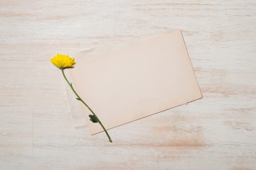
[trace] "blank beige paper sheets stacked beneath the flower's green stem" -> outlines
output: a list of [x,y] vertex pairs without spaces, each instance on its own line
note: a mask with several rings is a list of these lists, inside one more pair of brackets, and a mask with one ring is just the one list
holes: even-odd
[[[68,69],[106,129],[202,98],[181,31],[112,46],[77,53]],[[84,127],[85,118],[92,135],[102,132],[89,120],[90,111],[68,95],[75,126]]]

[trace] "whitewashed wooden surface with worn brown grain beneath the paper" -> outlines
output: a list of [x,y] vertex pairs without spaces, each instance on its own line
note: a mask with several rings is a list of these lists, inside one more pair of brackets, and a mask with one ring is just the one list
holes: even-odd
[[[1,170],[255,170],[256,1],[1,0]],[[89,135],[50,58],[181,29],[204,98]]]

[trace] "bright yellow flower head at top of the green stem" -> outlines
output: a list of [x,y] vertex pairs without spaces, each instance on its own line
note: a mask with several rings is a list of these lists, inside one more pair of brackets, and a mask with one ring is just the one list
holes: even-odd
[[69,68],[76,64],[74,58],[70,58],[68,55],[57,54],[51,59],[52,64],[60,69]]

